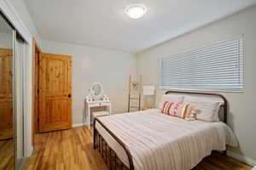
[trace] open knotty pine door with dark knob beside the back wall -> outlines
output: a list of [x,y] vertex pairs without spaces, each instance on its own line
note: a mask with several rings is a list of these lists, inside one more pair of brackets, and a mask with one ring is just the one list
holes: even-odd
[[71,128],[72,57],[39,56],[39,131]]

